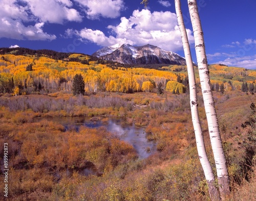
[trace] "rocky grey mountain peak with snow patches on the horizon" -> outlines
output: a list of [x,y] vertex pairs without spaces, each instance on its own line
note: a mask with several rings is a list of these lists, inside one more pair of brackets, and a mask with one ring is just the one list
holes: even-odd
[[115,44],[96,51],[92,56],[125,64],[186,65],[185,59],[180,55],[151,44],[140,47],[131,46],[131,44]]

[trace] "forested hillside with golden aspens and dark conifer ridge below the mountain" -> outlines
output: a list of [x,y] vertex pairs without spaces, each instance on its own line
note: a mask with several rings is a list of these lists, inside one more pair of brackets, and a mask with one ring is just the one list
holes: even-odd
[[[40,90],[45,92],[71,91],[72,79],[75,74],[83,76],[88,94],[102,91],[141,92],[145,91],[145,87],[142,87],[145,81],[150,81],[153,88],[160,82],[166,88],[168,81],[178,81],[182,84],[180,85],[181,93],[185,93],[188,84],[185,65],[158,66],[158,70],[145,69],[147,66],[144,66],[143,69],[132,68],[133,65],[124,68],[123,64],[108,63],[89,55],[57,53],[47,50],[32,51],[23,48],[11,50],[15,55],[5,53],[7,49],[1,50],[2,53],[5,53],[0,57],[1,93],[12,93],[14,86],[19,88],[19,94],[30,94]],[[61,60],[57,59],[60,57]],[[242,88],[244,83],[247,85],[247,91],[250,87],[250,91],[254,91],[256,71],[217,64],[210,65],[209,69],[212,90],[219,91],[220,86],[223,85],[223,92],[245,91]],[[177,80],[178,77],[179,80]],[[199,76],[196,79],[200,86]],[[168,90],[173,91],[173,88],[170,86]]]

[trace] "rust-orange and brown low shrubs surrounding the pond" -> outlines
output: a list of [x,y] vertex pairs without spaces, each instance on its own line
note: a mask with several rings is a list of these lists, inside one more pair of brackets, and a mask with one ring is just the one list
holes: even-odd
[[[250,103],[254,97],[236,93],[214,95],[234,192],[230,200],[246,200],[241,198],[245,196],[243,191],[250,191],[254,185],[253,155],[249,155],[246,148],[255,145],[247,138],[251,125],[247,123],[247,127],[242,128],[241,124],[252,118],[249,117]],[[100,93],[87,97],[59,93],[1,97],[1,104],[0,141],[8,142],[12,167],[9,200],[209,198],[195,147],[187,95]],[[199,110],[210,150],[203,107]],[[76,132],[65,131],[50,119],[35,122],[38,116],[63,114],[123,116],[128,122],[146,126],[147,138],[156,141],[158,151],[145,160],[138,160],[131,145],[104,128],[81,127]],[[244,139],[247,140],[241,144]],[[97,175],[78,173],[91,165]]]

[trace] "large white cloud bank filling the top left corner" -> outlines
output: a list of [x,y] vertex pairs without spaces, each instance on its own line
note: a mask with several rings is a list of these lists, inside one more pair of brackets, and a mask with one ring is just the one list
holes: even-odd
[[1,38],[53,40],[56,36],[43,30],[45,23],[82,20],[69,0],[2,0],[1,3]]

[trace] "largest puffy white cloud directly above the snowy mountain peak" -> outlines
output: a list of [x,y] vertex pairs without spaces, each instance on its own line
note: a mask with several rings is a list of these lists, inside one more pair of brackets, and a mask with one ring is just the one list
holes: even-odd
[[[91,29],[73,31],[73,33],[100,46],[121,42],[136,46],[150,43],[168,51],[182,50],[177,17],[175,13],[169,11],[152,13],[145,9],[135,10],[129,18],[121,17],[119,25],[110,25],[108,28],[111,30],[110,36],[106,36],[100,30]],[[193,33],[189,29],[187,29],[187,35],[189,42],[193,43]]]

